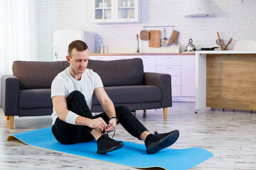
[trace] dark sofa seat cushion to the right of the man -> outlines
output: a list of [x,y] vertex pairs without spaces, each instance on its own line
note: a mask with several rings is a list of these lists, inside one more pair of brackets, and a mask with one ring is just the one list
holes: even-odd
[[[162,98],[159,86],[107,86],[104,89],[114,104],[150,103]],[[95,96],[92,105],[100,105]]]

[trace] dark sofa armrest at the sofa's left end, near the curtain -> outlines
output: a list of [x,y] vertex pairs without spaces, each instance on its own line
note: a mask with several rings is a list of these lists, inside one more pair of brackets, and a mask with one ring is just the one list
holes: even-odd
[[1,77],[1,107],[5,115],[18,115],[20,81],[12,75]]

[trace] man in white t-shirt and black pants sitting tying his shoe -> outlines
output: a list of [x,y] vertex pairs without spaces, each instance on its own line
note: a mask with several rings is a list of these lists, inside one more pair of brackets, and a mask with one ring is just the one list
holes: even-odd
[[[99,75],[87,69],[89,50],[85,42],[71,42],[66,59],[70,66],[55,77],[51,86],[52,131],[58,142],[70,145],[95,139],[97,154],[106,154],[124,145],[105,133],[112,132],[118,123],[131,135],[145,142],[148,154],[159,152],[178,140],[178,130],[153,135],[126,106],[114,107]],[[105,111],[95,116],[90,112],[93,93]]]

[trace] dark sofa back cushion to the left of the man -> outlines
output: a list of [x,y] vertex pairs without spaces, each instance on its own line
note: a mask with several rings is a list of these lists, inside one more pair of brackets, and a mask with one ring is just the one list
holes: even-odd
[[53,79],[59,72],[69,66],[63,62],[26,62],[15,61],[13,74],[18,77],[21,89],[46,89],[50,88]]

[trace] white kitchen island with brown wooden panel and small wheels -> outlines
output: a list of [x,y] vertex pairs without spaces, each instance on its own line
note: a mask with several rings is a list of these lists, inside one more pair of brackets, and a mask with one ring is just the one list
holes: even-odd
[[256,51],[196,52],[196,111],[256,111]]

